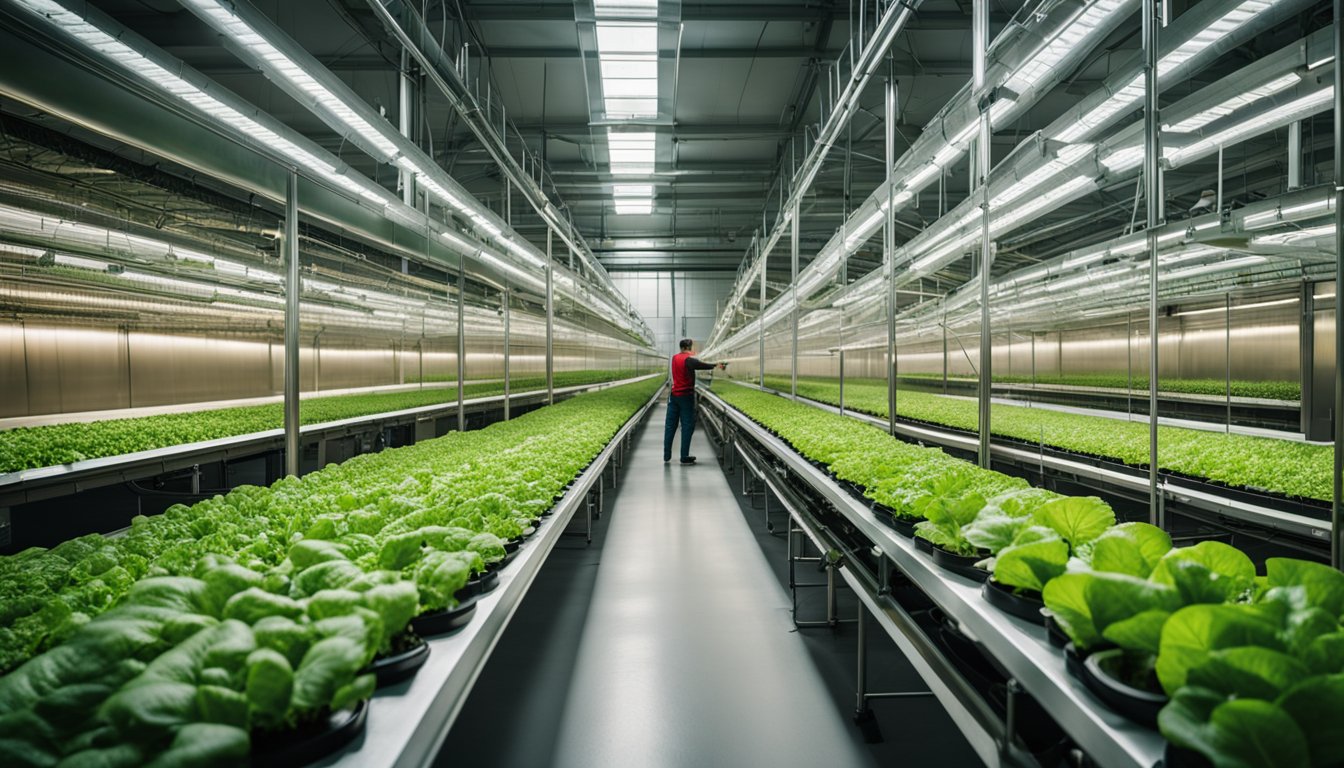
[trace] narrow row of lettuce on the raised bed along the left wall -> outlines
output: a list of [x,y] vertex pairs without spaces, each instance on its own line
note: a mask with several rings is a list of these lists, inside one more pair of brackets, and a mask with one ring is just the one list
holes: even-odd
[[[636,375],[624,370],[562,371],[554,375],[555,386],[583,386],[620,381]],[[513,378],[513,393],[546,389],[546,377]],[[504,394],[503,381],[469,382],[462,386],[468,398]],[[376,394],[340,394],[306,398],[298,409],[302,424],[327,424],[409,408],[457,402],[457,387],[433,387]],[[220,440],[280,429],[285,424],[284,404],[246,405],[168,413],[136,418],[112,418],[93,422],[52,424],[0,432],[0,475],[20,469],[55,467],[121,456],[137,451],[168,448],[203,440]]]

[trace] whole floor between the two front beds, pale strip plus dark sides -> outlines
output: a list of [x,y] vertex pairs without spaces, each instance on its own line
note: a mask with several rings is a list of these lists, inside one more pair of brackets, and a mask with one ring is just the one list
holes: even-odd
[[[743,514],[703,433],[691,467],[663,464],[661,438],[659,408],[593,546],[567,538],[551,553],[437,764],[969,765],[933,699],[891,702],[903,712],[888,744],[864,744],[852,662],[836,654],[852,628],[794,629],[782,539],[759,541],[759,510]],[[888,674],[874,678],[918,685],[894,647],[870,646],[886,646],[870,663]]]

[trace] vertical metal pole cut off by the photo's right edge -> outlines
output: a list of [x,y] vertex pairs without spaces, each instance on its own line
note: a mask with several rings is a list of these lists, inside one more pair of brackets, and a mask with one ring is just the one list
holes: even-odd
[[1344,565],[1344,0],[1335,0],[1335,502],[1331,504],[1331,564]]

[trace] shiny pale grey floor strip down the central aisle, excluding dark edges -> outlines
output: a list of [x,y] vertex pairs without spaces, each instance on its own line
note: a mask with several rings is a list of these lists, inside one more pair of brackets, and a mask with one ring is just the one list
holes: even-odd
[[[680,436],[679,436],[680,438]],[[710,443],[661,461],[663,408],[620,491],[569,686],[562,767],[856,765]],[[675,449],[673,449],[675,452]]]

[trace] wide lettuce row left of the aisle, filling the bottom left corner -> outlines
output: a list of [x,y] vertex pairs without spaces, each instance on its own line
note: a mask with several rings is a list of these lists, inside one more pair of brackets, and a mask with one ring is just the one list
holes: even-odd
[[241,487],[0,558],[0,764],[234,765],[368,698],[657,389]]

